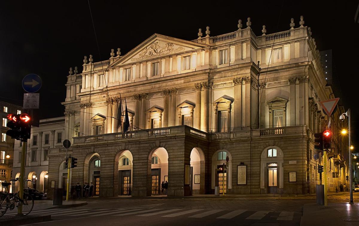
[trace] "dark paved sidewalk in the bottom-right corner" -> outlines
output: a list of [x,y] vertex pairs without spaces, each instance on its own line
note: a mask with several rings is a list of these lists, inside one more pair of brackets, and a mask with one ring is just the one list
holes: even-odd
[[307,225],[358,225],[359,203],[304,204],[301,226]]

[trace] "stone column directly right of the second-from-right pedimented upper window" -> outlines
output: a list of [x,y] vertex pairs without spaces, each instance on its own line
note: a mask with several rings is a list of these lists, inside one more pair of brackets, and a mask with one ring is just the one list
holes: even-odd
[[242,78],[234,78],[234,130],[242,129]]

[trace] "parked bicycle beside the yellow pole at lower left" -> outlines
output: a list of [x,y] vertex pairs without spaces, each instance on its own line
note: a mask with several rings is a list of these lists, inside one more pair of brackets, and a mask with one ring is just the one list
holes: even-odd
[[[19,178],[10,180],[10,181],[18,181]],[[31,180],[24,180],[24,183]],[[3,182],[1,183],[3,187],[5,187],[5,190],[8,189],[8,186],[11,185],[11,183]],[[20,192],[20,191],[19,191]],[[17,207],[19,208],[19,204],[22,203],[22,213],[23,215],[28,215],[32,208],[34,207],[34,199],[31,195],[28,193],[23,193],[23,199],[20,199],[19,192],[17,193],[9,193],[4,192],[0,194],[0,217],[2,217],[8,209],[13,210],[15,208],[15,204],[17,204]]]

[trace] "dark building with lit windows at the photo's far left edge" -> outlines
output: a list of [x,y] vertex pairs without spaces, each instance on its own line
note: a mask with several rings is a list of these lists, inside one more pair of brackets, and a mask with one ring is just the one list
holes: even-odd
[[[6,135],[9,129],[6,127],[8,123],[8,114],[21,114],[22,107],[0,100],[0,120],[1,120],[1,142],[0,142],[0,191],[2,181],[9,181],[13,177],[13,160],[14,160],[14,140]],[[11,188],[10,188],[11,189]]]

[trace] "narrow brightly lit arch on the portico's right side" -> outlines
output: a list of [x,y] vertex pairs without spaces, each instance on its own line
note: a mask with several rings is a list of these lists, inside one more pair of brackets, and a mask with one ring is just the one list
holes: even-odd
[[191,151],[191,190],[192,194],[205,193],[205,156],[201,148],[193,148]]

